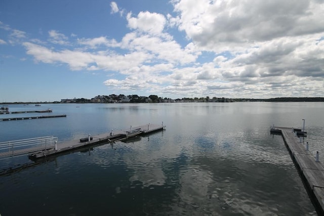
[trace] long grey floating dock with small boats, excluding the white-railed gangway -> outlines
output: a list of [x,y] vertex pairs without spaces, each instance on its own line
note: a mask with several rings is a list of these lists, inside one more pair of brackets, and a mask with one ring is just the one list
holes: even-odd
[[[53,149],[41,150],[29,154],[31,160],[36,160],[38,158],[44,158],[51,155],[60,154],[63,152],[75,150],[78,148],[84,148],[87,146],[93,146],[104,142],[114,143],[116,141],[123,141],[129,138],[134,138],[138,135],[145,135],[165,129],[165,125],[157,124],[145,124],[141,126],[131,127],[130,129],[116,130],[110,133],[105,133],[101,135],[91,136],[90,141],[80,142],[80,140],[71,140],[63,143],[57,143]],[[91,140],[92,138],[92,140]],[[84,141],[86,138],[82,138]]]

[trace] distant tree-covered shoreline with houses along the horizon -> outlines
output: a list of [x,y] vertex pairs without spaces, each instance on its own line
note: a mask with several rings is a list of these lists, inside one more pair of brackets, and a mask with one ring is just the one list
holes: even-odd
[[[138,95],[98,95],[92,99],[86,98],[73,98],[73,99],[61,99],[61,101],[54,102],[37,102],[41,103],[231,103],[231,102],[324,102],[323,97],[314,97],[314,98],[270,98],[270,99],[231,99],[231,98],[217,98],[217,97],[206,97],[206,98],[182,98],[182,99],[171,99],[171,98],[161,98],[157,95],[138,96]],[[28,104],[35,102],[11,102],[11,103],[0,103],[0,104]]]

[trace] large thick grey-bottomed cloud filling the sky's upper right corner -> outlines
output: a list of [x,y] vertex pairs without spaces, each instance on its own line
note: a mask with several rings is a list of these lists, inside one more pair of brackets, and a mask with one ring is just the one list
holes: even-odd
[[[319,3],[319,4],[318,4]],[[278,37],[322,32],[324,10],[315,1],[178,1],[179,29],[199,46],[222,52]]]

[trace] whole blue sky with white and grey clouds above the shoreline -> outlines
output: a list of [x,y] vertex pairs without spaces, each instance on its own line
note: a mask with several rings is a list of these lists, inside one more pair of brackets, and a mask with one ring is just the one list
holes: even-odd
[[324,0],[1,0],[0,102],[324,97]]

